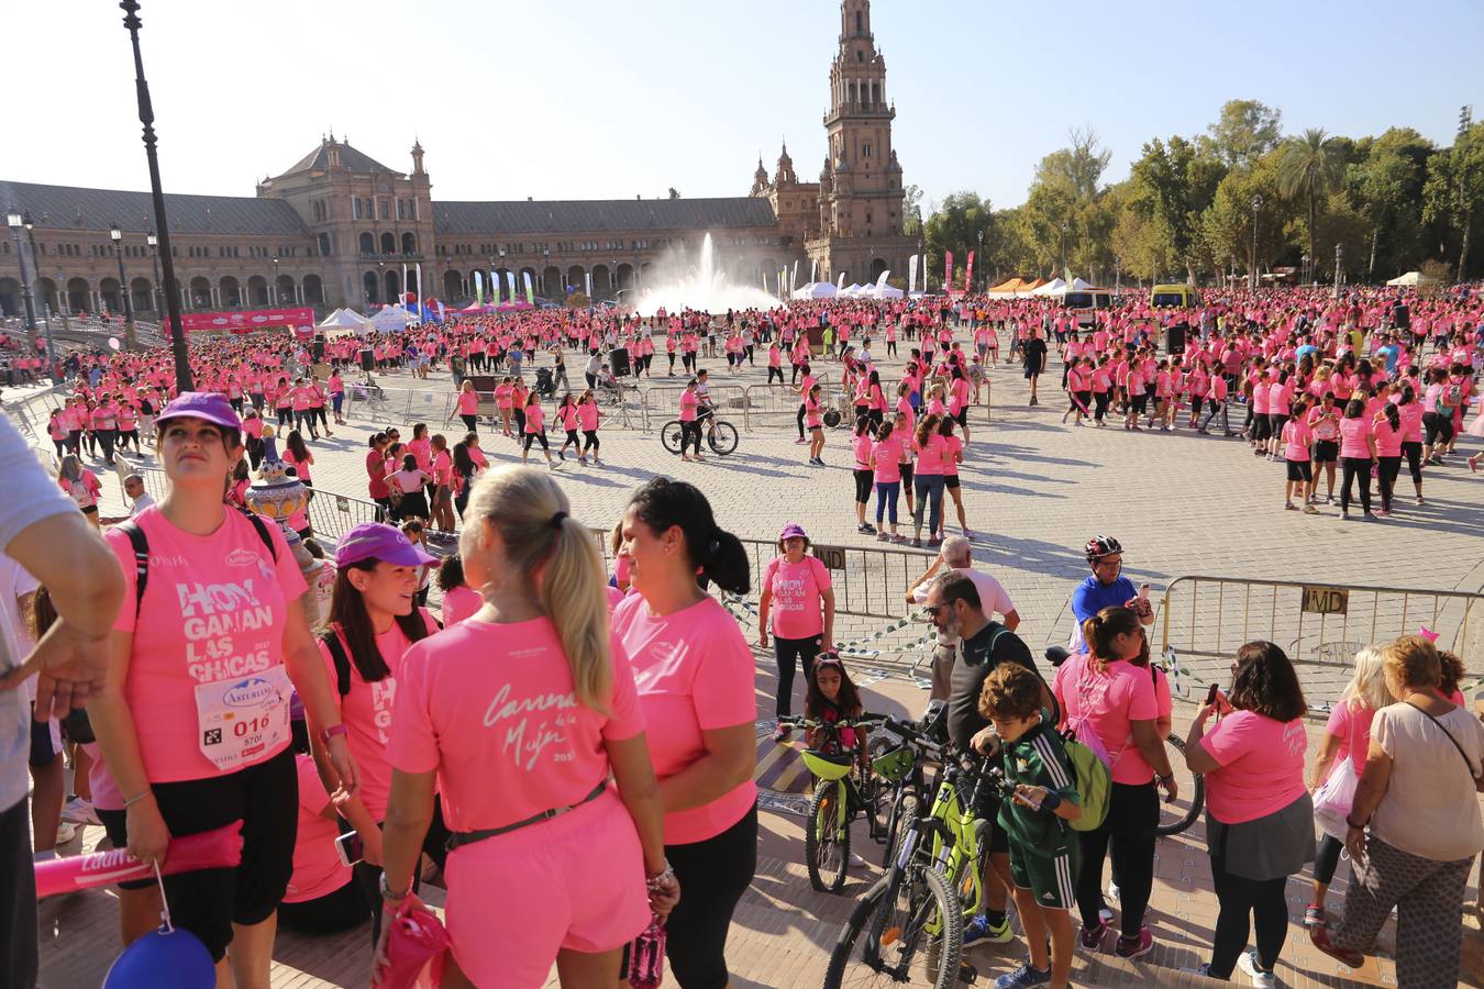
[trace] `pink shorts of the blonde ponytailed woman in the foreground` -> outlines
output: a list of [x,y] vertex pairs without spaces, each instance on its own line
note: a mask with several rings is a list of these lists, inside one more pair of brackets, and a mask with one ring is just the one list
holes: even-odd
[[601,953],[649,927],[644,854],[613,790],[448,856],[448,933],[476,986],[539,988],[556,952]]

